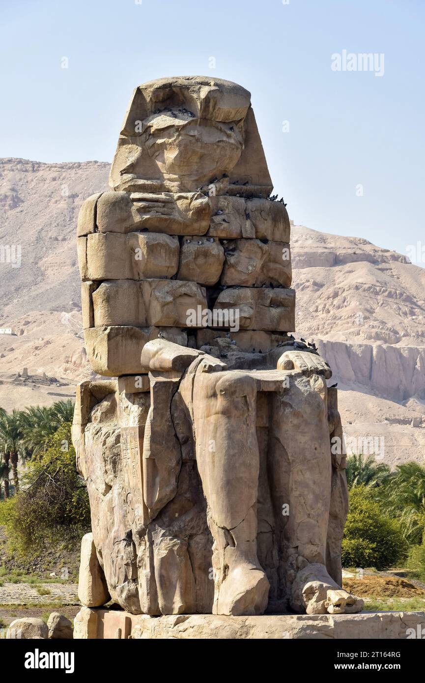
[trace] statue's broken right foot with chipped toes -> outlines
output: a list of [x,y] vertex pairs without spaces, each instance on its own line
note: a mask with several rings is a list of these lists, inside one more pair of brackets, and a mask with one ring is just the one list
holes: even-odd
[[364,600],[344,591],[323,564],[314,563],[298,572],[290,604],[294,611],[307,614],[353,614],[361,612]]

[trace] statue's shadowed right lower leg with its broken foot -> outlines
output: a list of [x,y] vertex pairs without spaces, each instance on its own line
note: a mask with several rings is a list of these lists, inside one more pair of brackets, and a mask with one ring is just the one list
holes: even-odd
[[342,591],[326,569],[331,451],[323,378],[292,376],[289,388],[275,395],[270,436],[271,471],[282,451],[288,473],[283,545],[292,608],[310,614],[360,611],[363,601]]

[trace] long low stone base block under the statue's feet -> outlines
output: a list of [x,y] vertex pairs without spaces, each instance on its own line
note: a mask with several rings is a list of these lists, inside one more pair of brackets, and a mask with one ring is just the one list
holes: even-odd
[[82,607],[74,639],[409,639],[425,632],[425,612],[338,615],[213,614],[149,617],[115,609]]

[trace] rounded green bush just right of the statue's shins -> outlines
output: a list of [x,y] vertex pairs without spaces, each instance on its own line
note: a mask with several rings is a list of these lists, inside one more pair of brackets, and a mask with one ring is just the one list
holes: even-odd
[[381,570],[404,559],[406,551],[398,521],[385,515],[374,500],[374,489],[353,487],[342,540],[342,566]]

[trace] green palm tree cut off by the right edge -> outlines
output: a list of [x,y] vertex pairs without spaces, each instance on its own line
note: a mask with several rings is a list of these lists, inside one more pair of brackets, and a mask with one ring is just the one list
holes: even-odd
[[398,518],[407,540],[420,544],[425,529],[425,466],[413,460],[397,465],[385,487],[383,505]]

